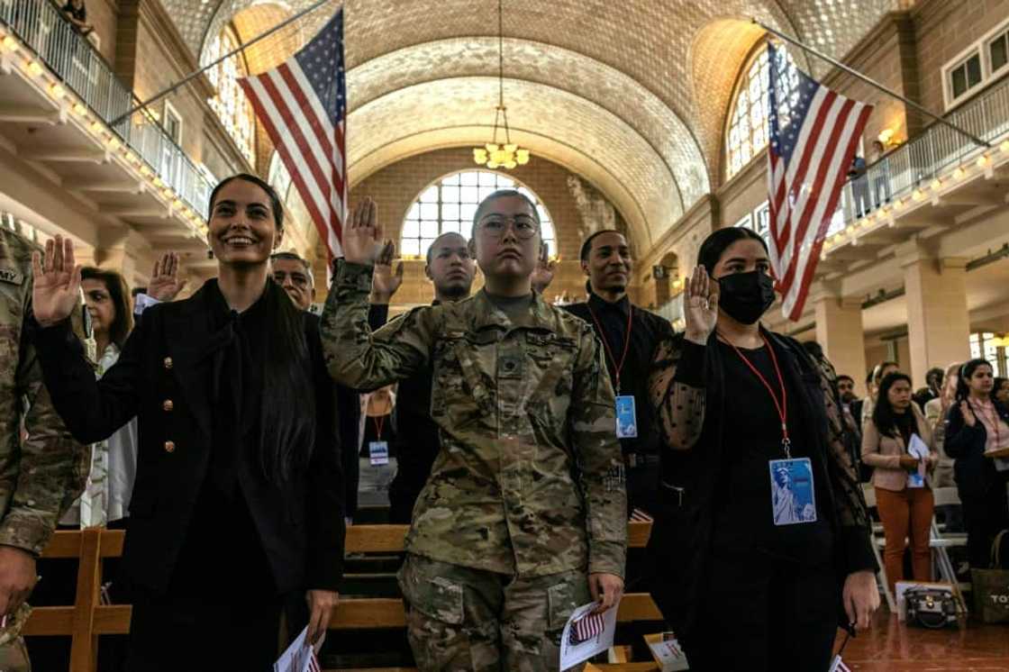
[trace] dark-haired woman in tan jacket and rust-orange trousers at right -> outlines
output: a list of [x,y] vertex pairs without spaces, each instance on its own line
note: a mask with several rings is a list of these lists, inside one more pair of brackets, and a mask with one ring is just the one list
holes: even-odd
[[[915,437],[919,441],[913,441]],[[927,448],[927,455],[911,454],[912,444]],[[888,373],[880,383],[862,438],[862,459],[874,467],[872,483],[886,537],[883,564],[890,590],[904,579],[905,540],[910,542],[914,580],[930,581],[928,537],[935,506],[930,472],[939,455],[928,422],[911,401],[911,378],[904,373]]]

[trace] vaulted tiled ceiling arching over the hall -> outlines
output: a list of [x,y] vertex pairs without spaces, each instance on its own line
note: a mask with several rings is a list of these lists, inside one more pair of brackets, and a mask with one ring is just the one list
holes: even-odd
[[[194,52],[234,21],[248,41],[310,0],[161,0]],[[843,57],[909,0],[504,0],[515,135],[596,184],[647,247],[721,174],[736,75],[756,17]],[[494,0],[347,0],[348,147],[357,182],[406,155],[482,142],[496,101]],[[250,47],[259,72],[332,15],[326,4]],[[801,67],[821,63],[795,53]]]

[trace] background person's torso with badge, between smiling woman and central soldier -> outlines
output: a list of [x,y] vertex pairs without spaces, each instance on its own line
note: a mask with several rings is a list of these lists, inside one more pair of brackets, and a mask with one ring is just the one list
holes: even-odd
[[[357,457],[360,463],[357,499],[359,503],[378,507],[388,503],[388,487],[396,476],[398,456],[395,385],[383,385],[360,396],[360,437]],[[411,432],[413,434],[413,432]],[[409,448],[408,448],[409,450]]]

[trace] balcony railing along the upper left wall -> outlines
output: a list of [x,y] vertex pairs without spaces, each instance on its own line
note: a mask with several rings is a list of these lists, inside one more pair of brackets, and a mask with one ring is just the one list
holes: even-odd
[[146,110],[111,125],[138,101],[54,4],[49,0],[0,0],[0,23],[16,33],[166,186],[206,217],[213,185]]

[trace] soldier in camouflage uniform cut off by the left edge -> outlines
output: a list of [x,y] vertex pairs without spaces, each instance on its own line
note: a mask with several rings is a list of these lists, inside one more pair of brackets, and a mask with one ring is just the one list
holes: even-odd
[[[84,488],[87,448],[76,442],[57,415],[42,383],[35,348],[25,333],[30,322],[31,253],[34,245],[0,226],[0,664],[12,672],[30,669],[21,628],[38,574],[36,559],[60,517]],[[73,328],[86,334],[75,297]],[[42,669],[36,667],[35,669]]]

